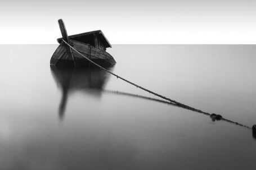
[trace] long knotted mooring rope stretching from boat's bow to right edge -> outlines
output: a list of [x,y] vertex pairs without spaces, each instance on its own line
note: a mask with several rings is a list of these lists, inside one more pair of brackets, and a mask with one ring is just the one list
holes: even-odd
[[121,80],[123,80],[123,81],[125,81],[125,82],[128,82],[129,84],[131,84],[131,85],[133,85],[133,86],[136,86],[136,88],[142,89],[142,90],[144,90],[144,91],[149,92],[150,94],[154,94],[154,95],[156,95],[156,96],[158,96],[158,97],[160,97],[160,98],[162,98],[162,99],[168,100],[169,102],[171,102],[171,103],[173,103],[173,104],[176,104],[176,105],[179,106],[179,107],[186,108],[186,109],[190,109],[191,111],[195,111],[195,112],[199,112],[199,113],[206,114],[206,115],[210,116],[210,117],[212,118],[212,120],[214,120],[214,121],[215,121],[215,120],[223,120],[223,121],[227,121],[227,122],[230,122],[230,123],[235,123],[236,125],[240,125],[240,126],[243,126],[243,127],[246,127],[246,128],[251,129],[251,127],[249,127],[249,126],[242,125],[242,124],[240,124],[240,123],[227,120],[226,118],[223,118],[220,114],[214,114],[214,113],[210,114],[210,113],[208,113],[208,112],[203,112],[203,111],[201,111],[200,109],[196,109],[196,108],[190,107],[189,105],[176,102],[175,100],[172,100],[172,99],[167,98],[167,97],[165,97],[165,96],[163,96],[163,95],[160,95],[160,94],[158,94],[158,93],[155,93],[154,91],[151,91],[151,90],[148,90],[148,89],[146,89],[146,88],[143,88],[142,86],[139,86],[139,85],[137,85],[137,84],[135,84],[135,83],[133,83],[133,82],[127,80],[127,79],[124,79],[123,77],[121,77],[121,76],[119,76],[119,75],[116,75],[115,73],[113,73],[113,72],[107,70],[106,68],[104,68],[104,67],[98,65],[97,63],[93,62],[91,59],[87,58],[87,57],[84,56],[82,53],[80,53],[77,49],[75,49],[74,47],[72,47],[69,43],[65,42],[65,40],[62,39],[62,42],[66,43],[66,45],[68,45],[71,49],[73,49],[75,52],[77,52],[77,53],[80,54],[82,57],[84,57],[85,59],[87,59],[87,61],[93,63],[93,65],[99,67],[101,70],[104,70],[104,71],[110,73],[111,75],[115,76],[116,78],[119,78],[119,79],[121,79]]

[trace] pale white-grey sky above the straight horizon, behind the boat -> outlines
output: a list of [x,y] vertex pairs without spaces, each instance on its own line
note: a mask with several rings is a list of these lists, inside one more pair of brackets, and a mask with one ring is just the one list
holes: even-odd
[[251,0],[0,1],[0,44],[57,44],[58,19],[111,44],[256,44]]

